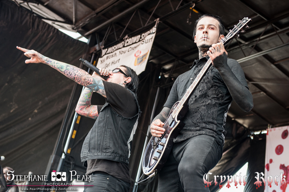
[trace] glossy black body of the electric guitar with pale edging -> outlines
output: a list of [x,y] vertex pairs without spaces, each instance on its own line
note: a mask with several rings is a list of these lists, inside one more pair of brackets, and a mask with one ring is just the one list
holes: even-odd
[[185,123],[181,122],[182,118],[188,111],[188,102],[180,108],[175,118],[169,118],[172,116],[172,112],[175,110],[179,101],[176,102],[171,111],[169,112],[168,118],[164,122],[163,128],[166,129],[162,137],[152,136],[148,142],[148,146],[144,152],[144,159],[142,162],[142,170],[144,174],[150,175],[152,172],[159,172],[172,150],[173,139],[180,133]]

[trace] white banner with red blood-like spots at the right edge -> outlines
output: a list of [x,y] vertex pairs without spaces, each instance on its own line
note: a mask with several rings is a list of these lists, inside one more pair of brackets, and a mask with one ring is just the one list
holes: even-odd
[[265,192],[289,192],[288,129],[289,126],[283,126],[271,128],[267,132]]

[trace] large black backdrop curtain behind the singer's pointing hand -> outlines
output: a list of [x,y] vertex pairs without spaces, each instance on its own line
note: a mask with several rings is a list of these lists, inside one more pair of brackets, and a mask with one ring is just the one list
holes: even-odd
[[44,175],[75,82],[45,64],[26,64],[16,46],[79,66],[88,45],[0,1],[0,163],[16,175]]

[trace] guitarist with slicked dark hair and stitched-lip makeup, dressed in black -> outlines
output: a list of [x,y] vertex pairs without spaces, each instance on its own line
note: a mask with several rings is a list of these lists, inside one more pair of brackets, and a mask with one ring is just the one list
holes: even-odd
[[188,101],[184,128],[174,139],[169,157],[159,172],[158,191],[209,191],[203,176],[222,157],[225,142],[225,122],[234,99],[243,111],[253,108],[244,72],[240,64],[229,59],[221,42],[224,26],[220,17],[201,16],[194,25],[194,42],[199,60],[191,70],[179,75],[172,86],[163,110],[151,123],[151,134],[160,137],[163,125],[175,102],[182,99],[209,58],[213,66],[208,70]]

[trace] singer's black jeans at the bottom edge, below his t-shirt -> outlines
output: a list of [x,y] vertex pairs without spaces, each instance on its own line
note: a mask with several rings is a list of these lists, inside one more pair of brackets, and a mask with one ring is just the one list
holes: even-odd
[[91,180],[85,181],[84,192],[128,192],[130,184],[105,172],[93,172],[91,175]]

